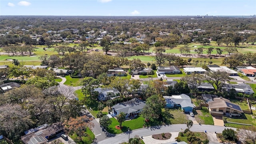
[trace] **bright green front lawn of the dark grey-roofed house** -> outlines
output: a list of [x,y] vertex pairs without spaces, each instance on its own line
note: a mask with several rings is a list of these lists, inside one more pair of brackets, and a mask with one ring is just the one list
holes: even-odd
[[119,125],[119,122],[116,120],[116,118],[110,118],[110,119],[112,121],[112,124],[108,128],[108,132],[110,132],[112,134],[120,134],[122,132],[126,132],[128,130],[128,128],[130,128],[130,130],[136,130],[138,128],[143,128],[143,124],[144,124],[144,118],[142,118],[141,116],[138,116],[137,118],[135,118],[133,120],[127,120],[127,121],[123,122],[122,129],[118,130],[118,129],[116,129],[116,126]]

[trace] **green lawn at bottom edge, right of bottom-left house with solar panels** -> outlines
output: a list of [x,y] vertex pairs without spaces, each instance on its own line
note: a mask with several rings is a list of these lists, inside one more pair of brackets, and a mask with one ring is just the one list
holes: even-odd
[[95,139],[93,132],[90,128],[86,128],[85,134],[86,136],[82,136],[82,141],[77,138],[76,134],[72,134],[70,138],[72,138],[77,144],[91,144]]

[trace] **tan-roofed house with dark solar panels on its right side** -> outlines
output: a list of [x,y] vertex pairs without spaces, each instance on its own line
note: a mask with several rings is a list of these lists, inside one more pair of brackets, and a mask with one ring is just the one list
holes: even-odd
[[209,111],[212,116],[228,116],[238,117],[241,116],[243,110],[238,104],[230,102],[226,98],[214,98],[213,101],[208,102]]

